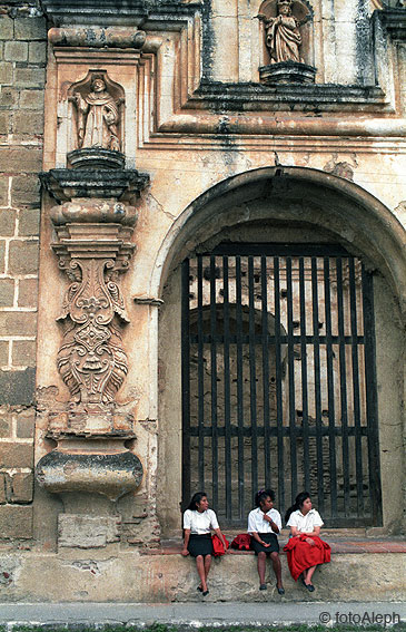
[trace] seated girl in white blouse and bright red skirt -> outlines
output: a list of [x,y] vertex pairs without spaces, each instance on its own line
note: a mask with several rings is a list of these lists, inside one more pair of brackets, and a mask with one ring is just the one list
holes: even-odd
[[313,593],[313,574],[319,564],[330,561],[329,545],[319,538],[324,522],[320,514],[311,507],[310,494],[301,492],[285,516],[286,526],[290,527],[290,539],[284,546],[288,566],[295,582],[301,575],[301,583]]

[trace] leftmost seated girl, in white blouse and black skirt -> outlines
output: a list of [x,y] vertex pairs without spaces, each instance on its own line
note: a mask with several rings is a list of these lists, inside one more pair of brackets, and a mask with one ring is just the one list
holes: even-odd
[[227,545],[224,535],[218,526],[217,516],[212,509],[209,509],[209,502],[205,492],[197,492],[189,503],[184,514],[184,548],[182,555],[191,555],[196,557],[196,567],[200,577],[200,584],[197,590],[204,596],[209,594],[207,587],[207,575],[210,571],[212,541],[211,529],[222,542],[225,551]]

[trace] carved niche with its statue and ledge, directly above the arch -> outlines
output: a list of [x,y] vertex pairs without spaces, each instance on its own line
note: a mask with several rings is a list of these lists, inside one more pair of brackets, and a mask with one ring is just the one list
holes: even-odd
[[265,0],[258,13],[266,85],[313,84],[313,9],[307,0]]

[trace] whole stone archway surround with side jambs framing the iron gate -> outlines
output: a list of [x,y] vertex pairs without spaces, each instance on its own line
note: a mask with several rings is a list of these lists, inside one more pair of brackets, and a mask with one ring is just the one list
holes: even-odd
[[[266,226],[268,229],[263,230]],[[384,526],[388,529],[399,526],[402,424],[394,425],[393,420],[402,417],[404,341],[400,314],[406,314],[405,231],[390,211],[360,186],[317,169],[276,166],[236,175],[201,194],[174,223],[156,260],[151,295],[164,298],[167,303],[162,308],[159,331],[161,339],[170,340],[169,344],[164,344],[166,350],[160,354],[158,487],[161,486],[164,496],[168,494],[168,503],[160,514],[164,533],[169,534],[180,525],[180,369],[174,370],[174,363],[180,366],[180,333],[177,333],[180,321],[179,264],[186,256],[201,250],[207,252],[221,241],[236,241],[241,235],[246,241],[255,241],[257,237],[250,240],[249,235],[258,236],[264,232],[264,241],[271,241],[269,235],[274,227],[280,226],[288,226],[289,234],[296,231],[298,235],[303,231],[308,240],[314,235],[314,241],[339,243],[376,271]],[[254,233],[249,232],[251,230]],[[172,314],[170,322],[166,315],[169,312]],[[395,382],[398,385],[396,392]]]

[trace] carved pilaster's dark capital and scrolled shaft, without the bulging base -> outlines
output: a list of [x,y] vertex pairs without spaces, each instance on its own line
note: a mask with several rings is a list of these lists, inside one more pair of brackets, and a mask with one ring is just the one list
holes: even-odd
[[[93,148],[95,159],[99,150]],[[129,319],[119,279],[135,251],[137,213],[129,201],[148,179],[131,169],[51,169],[41,176],[60,202],[50,212],[57,236],[51,245],[70,282],[57,319],[63,338],[56,362],[69,390],[67,415],[53,420],[58,432],[115,431],[116,395],[128,372],[121,334]]]

